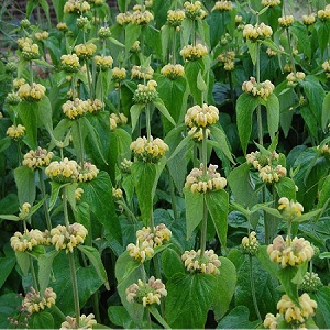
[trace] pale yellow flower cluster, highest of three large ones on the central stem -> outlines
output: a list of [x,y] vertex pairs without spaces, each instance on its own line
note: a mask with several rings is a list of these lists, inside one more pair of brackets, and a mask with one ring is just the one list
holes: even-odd
[[219,120],[219,110],[215,106],[206,103],[202,107],[196,105],[187,110],[185,124],[188,128],[207,128]]

